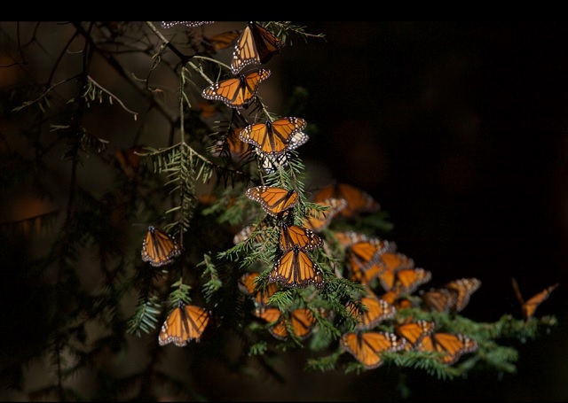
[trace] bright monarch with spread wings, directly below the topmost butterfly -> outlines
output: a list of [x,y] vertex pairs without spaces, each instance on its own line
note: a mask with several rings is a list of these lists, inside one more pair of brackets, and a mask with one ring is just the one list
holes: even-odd
[[261,68],[256,72],[240,74],[236,78],[217,81],[203,89],[201,96],[205,99],[222,101],[231,108],[245,108],[256,97],[258,84],[270,77],[270,74],[270,70]]

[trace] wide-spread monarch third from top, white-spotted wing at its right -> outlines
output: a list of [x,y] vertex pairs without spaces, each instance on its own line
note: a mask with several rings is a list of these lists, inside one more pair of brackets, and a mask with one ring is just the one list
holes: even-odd
[[253,123],[243,128],[239,138],[244,143],[252,144],[264,155],[278,156],[286,151],[295,150],[308,141],[304,134],[307,122],[302,118],[280,118],[267,120],[265,123]]

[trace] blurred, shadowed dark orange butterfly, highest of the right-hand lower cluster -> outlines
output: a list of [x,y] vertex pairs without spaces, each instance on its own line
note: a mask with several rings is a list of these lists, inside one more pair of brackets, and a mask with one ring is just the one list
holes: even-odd
[[352,217],[356,213],[375,213],[381,209],[375,199],[367,192],[347,183],[327,185],[313,195],[313,201],[322,201],[327,198],[344,198],[347,206],[339,215]]

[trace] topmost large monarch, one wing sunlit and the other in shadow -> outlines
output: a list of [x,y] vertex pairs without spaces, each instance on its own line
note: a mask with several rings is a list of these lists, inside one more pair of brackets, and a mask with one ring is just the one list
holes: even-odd
[[283,45],[284,43],[266,28],[250,21],[234,47],[231,71],[233,74],[239,74],[245,66],[264,64],[280,53],[280,47]]

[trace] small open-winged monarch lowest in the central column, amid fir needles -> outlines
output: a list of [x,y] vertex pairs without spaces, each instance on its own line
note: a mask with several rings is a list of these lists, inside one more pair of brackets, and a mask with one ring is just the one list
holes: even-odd
[[289,314],[282,313],[278,308],[271,308],[262,314],[261,317],[266,322],[278,321],[268,331],[273,337],[280,340],[288,339],[288,329],[290,328],[294,332],[295,337],[304,340],[312,334],[312,329],[316,324],[316,318],[307,308],[297,308]]

